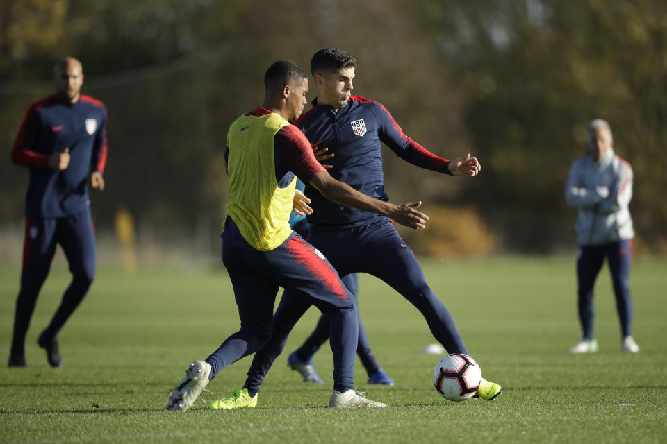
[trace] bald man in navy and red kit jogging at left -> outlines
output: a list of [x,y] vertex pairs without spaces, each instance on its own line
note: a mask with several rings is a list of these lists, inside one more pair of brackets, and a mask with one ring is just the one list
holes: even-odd
[[83,300],[95,275],[95,237],[86,182],[90,173],[90,186],[104,189],[106,108],[101,101],[81,94],[83,67],[79,60],[58,60],[54,75],[56,94],[31,106],[12,149],[12,160],[28,167],[30,185],[10,367],[27,366],[26,332],[56,244],[63,247],[72,284],[38,339],[52,367],[63,366],[58,332]]

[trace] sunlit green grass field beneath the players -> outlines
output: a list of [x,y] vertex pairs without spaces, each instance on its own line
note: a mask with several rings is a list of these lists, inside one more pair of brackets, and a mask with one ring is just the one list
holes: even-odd
[[[238,329],[224,269],[148,268],[124,275],[101,266],[88,298],[60,334],[65,368],[51,370],[35,344],[67,285],[53,266],[28,332],[27,369],[0,366],[2,443],[664,443],[667,435],[667,260],[636,259],[634,337],[641,352],[620,352],[618,318],[604,271],[595,298],[600,352],[573,356],[579,339],[572,257],[423,262],[427,280],[452,311],[487,379],[504,387],[494,402],[440,398],[431,373],[440,357],[418,311],[386,284],[363,275],[360,309],[377,359],[395,387],[356,384],[388,409],[324,408],[331,351],[315,355],[327,384],[306,384],[279,357],[258,408],[164,410],[170,388]],[[0,345],[8,356],[18,264],[0,267]],[[311,309],[286,351],[306,338]],[[249,358],[208,388],[240,388]],[[210,397],[209,397],[210,398]]]

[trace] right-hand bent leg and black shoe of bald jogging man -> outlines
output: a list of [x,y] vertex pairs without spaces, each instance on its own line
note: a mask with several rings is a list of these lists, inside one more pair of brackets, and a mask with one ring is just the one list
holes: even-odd
[[58,242],[63,247],[72,282],[63,294],[60,306],[53,314],[51,323],[40,334],[38,343],[47,350],[51,366],[63,366],[63,359],[58,352],[58,332],[63,328],[81,301],[88,293],[95,276],[96,248],[90,211],[58,219],[56,228]]

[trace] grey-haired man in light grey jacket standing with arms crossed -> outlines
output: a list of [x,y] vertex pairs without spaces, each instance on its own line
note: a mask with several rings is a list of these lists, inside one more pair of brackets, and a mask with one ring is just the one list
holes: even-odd
[[634,237],[628,209],[632,198],[632,168],[614,153],[613,145],[609,123],[602,119],[591,121],[586,130],[588,153],[573,162],[565,190],[568,205],[579,212],[577,283],[582,339],[570,348],[570,353],[598,351],[598,341],[593,334],[593,287],[605,257],[614,284],[621,350],[639,352],[631,332],[629,287]]

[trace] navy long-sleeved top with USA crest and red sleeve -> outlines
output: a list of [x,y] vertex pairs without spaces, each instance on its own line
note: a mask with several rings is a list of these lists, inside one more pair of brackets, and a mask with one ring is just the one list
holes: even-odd
[[[329,148],[334,157],[327,160],[331,176],[367,196],[388,200],[384,191],[382,148],[384,142],[396,155],[418,167],[450,174],[449,161],[439,157],[403,133],[381,103],[361,96],[350,96],[345,107],[334,112],[331,105],[318,105],[302,115],[294,125],[300,128],[311,146]],[[313,231],[338,230],[374,223],[386,216],[356,210],[325,199],[320,191],[306,184],[313,214],[307,216]]]

